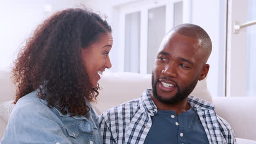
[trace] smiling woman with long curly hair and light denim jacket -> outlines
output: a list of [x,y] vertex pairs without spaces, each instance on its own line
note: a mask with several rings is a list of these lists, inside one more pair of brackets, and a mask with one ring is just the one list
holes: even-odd
[[1,143],[102,143],[90,102],[112,44],[108,23],[89,10],[39,25],[15,61],[15,107]]

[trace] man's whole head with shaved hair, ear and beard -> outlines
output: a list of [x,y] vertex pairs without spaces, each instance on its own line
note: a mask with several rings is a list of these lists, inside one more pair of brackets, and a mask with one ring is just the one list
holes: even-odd
[[[152,71],[153,101],[161,109],[187,103],[197,81],[205,79],[212,51],[209,35],[200,26],[182,24],[162,40]],[[163,106],[164,104],[164,106]]]

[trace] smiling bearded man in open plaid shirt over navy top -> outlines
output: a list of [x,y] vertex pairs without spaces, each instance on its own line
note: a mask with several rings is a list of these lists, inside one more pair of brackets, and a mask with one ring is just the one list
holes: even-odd
[[103,143],[236,143],[214,105],[189,95],[208,74],[211,50],[201,27],[173,28],[159,47],[152,89],[101,115]]

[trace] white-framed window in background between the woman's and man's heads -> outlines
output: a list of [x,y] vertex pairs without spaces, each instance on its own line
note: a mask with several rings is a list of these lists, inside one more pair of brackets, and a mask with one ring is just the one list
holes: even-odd
[[[185,13],[188,15],[188,13]],[[151,74],[165,34],[183,23],[183,1],[145,1],[120,7],[119,71]]]

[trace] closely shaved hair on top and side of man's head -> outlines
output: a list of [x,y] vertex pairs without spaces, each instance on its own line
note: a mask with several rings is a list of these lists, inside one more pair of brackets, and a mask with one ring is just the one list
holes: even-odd
[[173,35],[174,33],[178,33],[190,38],[198,39],[199,45],[197,45],[197,47],[200,47],[200,53],[202,54],[201,56],[205,56],[205,63],[207,62],[212,51],[212,41],[209,35],[206,33],[206,31],[203,30],[203,28],[190,23],[184,23],[182,25],[179,25],[171,29],[171,31],[168,32],[166,37],[170,38],[171,35]]

